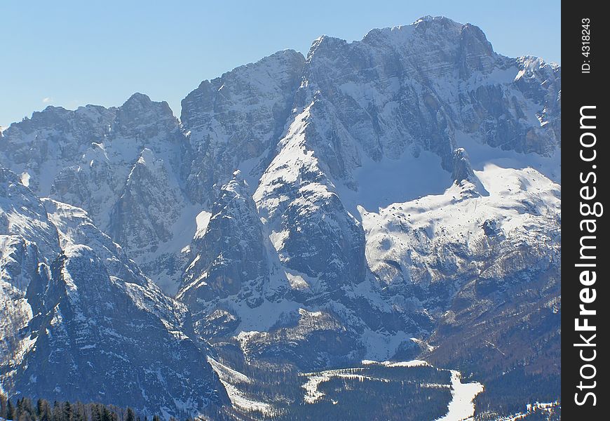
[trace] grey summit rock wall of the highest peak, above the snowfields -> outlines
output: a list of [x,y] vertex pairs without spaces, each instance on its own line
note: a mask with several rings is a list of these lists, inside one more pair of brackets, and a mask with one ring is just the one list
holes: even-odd
[[374,161],[398,158],[414,144],[438,154],[447,171],[456,132],[517,152],[550,154],[559,144],[543,123],[557,119],[559,67],[498,55],[479,28],[447,18],[373,29],[350,44],[323,36],[304,79],[297,105],[327,102],[320,106],[328,124],[344,130],[328,136],[334,153],[320,151],[339,159],[330,165],[337,177],[360,165],[353,141]]

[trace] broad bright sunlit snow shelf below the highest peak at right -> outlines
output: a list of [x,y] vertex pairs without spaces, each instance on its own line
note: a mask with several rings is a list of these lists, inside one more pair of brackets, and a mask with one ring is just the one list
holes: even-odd
[[[544,227],[550,227],[549,221],[561,213],[560,185],[532,168],[501,168],[492,163],[475,175],[489,195],[472,195],[452,185],[443,194],[393,203],[379,213],[359,207],[367,262],[382,283],[395,280],[386,271],[388,260],[399,262],[408,274],[414,260],[435,259],[426,250],[437,245],[475,246],[485,235],[486,220],[496,221],[502,235],[520,241],[536,243],[543,235],[553,235]],[[560,249],[556,249],[559,258]]]

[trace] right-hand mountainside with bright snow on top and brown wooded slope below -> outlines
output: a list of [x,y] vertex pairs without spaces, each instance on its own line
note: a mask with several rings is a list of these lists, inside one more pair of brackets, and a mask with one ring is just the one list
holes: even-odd
[[424,358],[473,373],[477,408],[507,414],[560,396],[560,186],[531,168],[475,173],[488,196],[466,182],[363,213],[367,262],[388,299],[434,317]]

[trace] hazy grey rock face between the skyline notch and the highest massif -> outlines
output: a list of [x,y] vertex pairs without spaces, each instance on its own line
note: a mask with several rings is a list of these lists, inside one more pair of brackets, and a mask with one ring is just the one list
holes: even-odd
[[[255,176],[264,171],[257,164],[263,159],[264,165],[266,154],[272,153],[282,134],[304,61],[301,53],[279,51],[201,82],[182,100],[192,200],[204,202],[210,187],[224,185],[242,164]],[[248,176],[246,171],[244,175]]]

